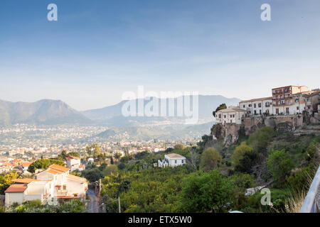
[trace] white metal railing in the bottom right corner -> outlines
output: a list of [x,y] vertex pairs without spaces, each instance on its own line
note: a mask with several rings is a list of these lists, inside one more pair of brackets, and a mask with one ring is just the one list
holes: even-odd
[[311,183],[308,194],[306,194],[306,198],[304,199],[304,204],[302,204],[302,208],[300,213],[319,213],[320,206],[320,167],[318,171],[316,171],[316,175],[314,176],[314,180]]

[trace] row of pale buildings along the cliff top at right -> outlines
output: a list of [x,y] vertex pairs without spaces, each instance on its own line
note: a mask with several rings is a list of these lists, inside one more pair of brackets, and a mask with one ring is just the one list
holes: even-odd
[[320,90],[309,91],[306,86],[286,86],[272,89],[272,96],[240,101],[239,106],[230,106],[215,114],[218,123],[240,124],[242,118],[250,116],[278,116],[316,114],[320,111]]

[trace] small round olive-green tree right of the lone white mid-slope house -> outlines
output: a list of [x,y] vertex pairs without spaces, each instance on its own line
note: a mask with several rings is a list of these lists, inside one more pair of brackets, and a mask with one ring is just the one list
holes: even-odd
[[200,166],[203,170],[209,171],[217,168],[223,158],[214,148],[207,148],[201,155]]

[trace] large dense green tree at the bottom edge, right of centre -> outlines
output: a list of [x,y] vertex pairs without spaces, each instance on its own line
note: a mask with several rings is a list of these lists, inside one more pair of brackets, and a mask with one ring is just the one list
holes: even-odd
[[226,212],[234,202],[234,185],[218,170],[195,172],[183,179],[183,212]]

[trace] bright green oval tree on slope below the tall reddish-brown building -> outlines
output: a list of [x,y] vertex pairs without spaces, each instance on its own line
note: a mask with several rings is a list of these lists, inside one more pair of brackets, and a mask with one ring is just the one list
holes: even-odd
[[281,184],[294,167],[294,162],[285,150],[271,150],[267,158],[267,166],[273,179],[277,184]]

